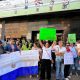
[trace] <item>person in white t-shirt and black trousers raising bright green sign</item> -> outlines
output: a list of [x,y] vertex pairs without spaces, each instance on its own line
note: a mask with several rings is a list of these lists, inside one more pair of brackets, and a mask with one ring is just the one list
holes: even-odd
[[45,72],[47,73],[47,80],[51,80],[51,49],[52,46],[49,46],[49,43],[46,42],[44,45],[41,41],[39,41],[40,46],[42,47],[42,60],[41,60],[41,74],[40,80],[45,80]]

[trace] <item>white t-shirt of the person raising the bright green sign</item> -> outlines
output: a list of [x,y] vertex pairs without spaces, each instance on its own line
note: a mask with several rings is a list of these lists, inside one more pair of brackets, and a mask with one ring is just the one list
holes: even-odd
[[52,59],[51,57],[51,49],[52,47],[46,48],[46,47],[42,47],[43,50],[43,54],[42,54],[42,59]]

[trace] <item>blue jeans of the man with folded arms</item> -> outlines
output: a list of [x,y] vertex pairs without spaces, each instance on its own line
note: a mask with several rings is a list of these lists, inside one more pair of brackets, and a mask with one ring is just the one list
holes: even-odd
[[64,63],[61,63],[60,60],[56,60],[56,79],[60,78],[64,80]]

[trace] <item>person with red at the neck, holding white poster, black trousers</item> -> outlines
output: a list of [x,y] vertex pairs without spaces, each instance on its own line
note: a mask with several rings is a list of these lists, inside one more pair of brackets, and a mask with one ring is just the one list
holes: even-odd
[[70,67],[74,64],[74,58],[73,58],[73,53],[70,49],[70,45],[67,43],[66,44],[66,52],[64,54],[64,77],[65,80],[69,80],[69,78],[71,78],[69,76],[70,74]]

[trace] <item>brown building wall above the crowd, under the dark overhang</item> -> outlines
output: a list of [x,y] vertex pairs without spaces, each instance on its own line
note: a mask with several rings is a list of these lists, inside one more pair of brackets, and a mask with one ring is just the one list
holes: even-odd
[[20,38],[21,35],[25,35],[28,39],[31,39],[32,31],[39,31],[40,27],[54,27],[57,30],[64,30],[62,35],[65,36],[68,32],[68,26],[68,19],[49,19],[39,21],[13,20],[5,23],[5,36],[7,38]]

